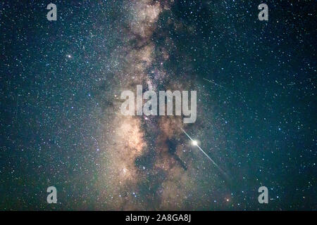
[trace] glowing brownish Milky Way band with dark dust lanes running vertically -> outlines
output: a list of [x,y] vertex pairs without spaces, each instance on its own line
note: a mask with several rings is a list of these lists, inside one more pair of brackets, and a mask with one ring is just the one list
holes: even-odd
[[[168,90],[194,88],[191,74],[184,75],[188,79],[183,81],[169,75],[163,67],[169,58],[168,51],[158,48],[152,40],[159,15],[170,11],[169,3],[135,1],[126,4],[129,16],[122,32],[126,44],[114,52],[123,55],[122,70],[115,73],[120,80],[118,89],[134,90],[137,84],[154,91],[163,86]],[[173,46],[166,34],[162,37],[166,44]],[[188,169],[191,162],[182,160],[183,150],[189,148],[181,135],[182,118],[126,117],[118,112],[120,102],[117,102],[110,109],[117,112],[110,119],[113,135],[106,138],[104,146],[107,162],[101,162],[106,173],[100,184],[112,187],[104,191],[101,200],[111,196],[113,203],[109,207],[115,210],[184,209],[199,200],[200,196],[188,196],[198,193],[193,169]],[[136,198],[137,195],[142,200]]]

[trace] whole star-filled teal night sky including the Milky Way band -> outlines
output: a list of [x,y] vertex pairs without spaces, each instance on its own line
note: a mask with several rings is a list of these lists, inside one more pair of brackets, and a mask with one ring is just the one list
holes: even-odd
[[[49,3],[0,4],[0,210],[317,210],[314,1]],[[137,85],[197,121],[122,115]]]

